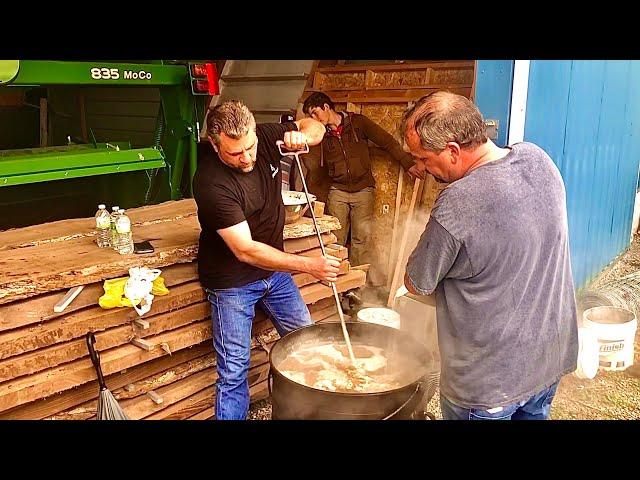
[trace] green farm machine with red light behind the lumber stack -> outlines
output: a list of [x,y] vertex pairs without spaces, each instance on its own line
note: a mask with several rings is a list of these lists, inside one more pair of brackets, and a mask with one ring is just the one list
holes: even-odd
[[0,230],[190,196],[215,63],[0,60]]

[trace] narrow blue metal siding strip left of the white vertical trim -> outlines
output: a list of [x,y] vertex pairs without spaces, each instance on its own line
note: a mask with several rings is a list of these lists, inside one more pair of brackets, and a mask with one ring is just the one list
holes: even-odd
[[498,120],[496,144],[507,143],[513,60],[478,60],[475,103],[485,119]]

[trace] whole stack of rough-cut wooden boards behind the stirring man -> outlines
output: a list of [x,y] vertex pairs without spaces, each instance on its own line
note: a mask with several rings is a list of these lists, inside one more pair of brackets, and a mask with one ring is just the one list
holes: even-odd
[[[84,336],[95,332],[106,384],[131,419],[206,419],[213,416],[215,354],[210,305],[195,262],[200,226],[193,200],[127,210],[134,240],[155,252],[120,255],[95,244],[93,218],[71,219],[0,232],[0,419],[95,418],[98,382]],[[319,218],[326,244],[340,228]],[[285,226],[285,250],[320,255],[309,218]],[[362,286],[346,249],[338,291]],[[156,296],[142,317],[133,308],[103,309],[106,279],[130,267],[160,268],[169,294]],[[294,279],[315,321],[335,317],[332,290],[298,273]],[[84,286],[59,313],[69,289]],[[268,349],[277,340],[257,310],[249,383],[252,401],[268,396]]]

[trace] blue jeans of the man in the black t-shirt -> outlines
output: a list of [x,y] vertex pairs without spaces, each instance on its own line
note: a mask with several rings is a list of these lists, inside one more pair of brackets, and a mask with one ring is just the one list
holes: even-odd
[[207,290],[216,350],[216,418],[243,420],[249,411],[251,325],[259,304],[282,336],[311,325],[309,309],[288,273],[275,272],[242,287]]

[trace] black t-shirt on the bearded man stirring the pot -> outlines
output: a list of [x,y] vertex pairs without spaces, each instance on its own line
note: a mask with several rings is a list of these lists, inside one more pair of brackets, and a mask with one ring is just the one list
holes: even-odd
[[296,129],[295,123],[258,125],[257,161],[249,173],[225,165],[210,144],[201,144],[193,194],[202,228],[198,271],[204,287],[241,287],[271,275],[238,260],[217,230],[246,220],[253,240],[283,250],[285,212],[276,141],[284,138],[284,132]]

